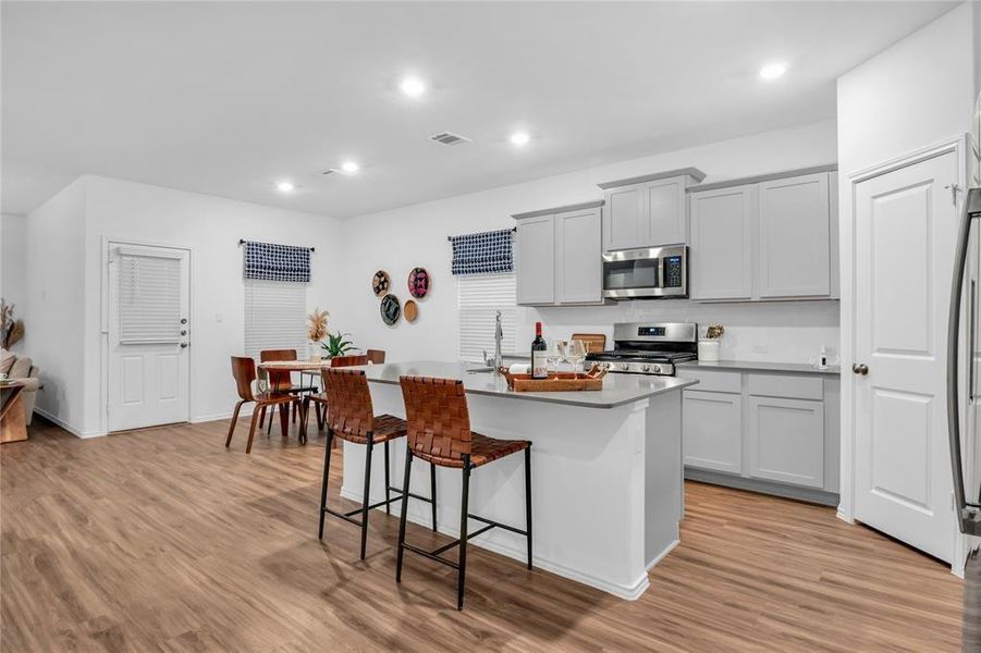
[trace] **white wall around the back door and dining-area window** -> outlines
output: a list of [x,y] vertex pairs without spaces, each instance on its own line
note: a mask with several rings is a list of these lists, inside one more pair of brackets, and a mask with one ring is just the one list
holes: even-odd
[[334,219],[197,193],[86,176],[85,430],[103,428],[102,239],[192,249],[191,418],[231,415],[229,358],[244,348],[245,292],[240,238],[316,247],[309,308],[333,310],[344,286]]

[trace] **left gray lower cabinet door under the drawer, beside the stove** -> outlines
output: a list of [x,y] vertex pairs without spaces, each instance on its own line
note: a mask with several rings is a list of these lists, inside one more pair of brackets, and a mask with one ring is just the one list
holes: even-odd
[[743,396],[684,391],[685,465],[739,473],[743,459]]

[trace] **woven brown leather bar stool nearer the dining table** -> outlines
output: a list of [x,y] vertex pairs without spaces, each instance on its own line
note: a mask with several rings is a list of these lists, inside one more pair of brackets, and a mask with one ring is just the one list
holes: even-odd
[[[384,506],[390,513],[392,502],[412,496],[432,504],[432,530],[436,530],[436,467],[430,470],[432,496],[421,496],[405,489],[393,488],[389,475],[389,441],[402,438],[406,433],[405,420],[392,415],[375,415],[371,406],[371,393],[364,370],[330,369],[323,371],[323,383],[327,390],[329,408],[327,411],[327,443],[323,454],[323,482],[320,486],[320,528],[317,537],[323,539],[323,521],[327,515],[340,517],[361,528],[361,559],[365,559],[365,547],[368,542],[368,510]],[[365,494],[361,507],[339,513],[327,507],[327,482],[330,478],[330,454],[333,439],[366,445],[365,455]],[[385,455],[385,498],[376,504],[371,501],[371,453],[375,445],[384,443]],[[392,492],[396,496],[392,496]],[[403,502],[403,505],[406,502]],[[354,516],[360,513],[360,519]],[[404,509],[403,509],[404,513]]]

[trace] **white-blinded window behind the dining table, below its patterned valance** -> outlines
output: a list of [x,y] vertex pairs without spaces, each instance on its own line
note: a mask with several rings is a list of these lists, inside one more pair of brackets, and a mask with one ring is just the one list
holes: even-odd
[[245,355],[263,349],[296,349],[305,356],[307,284],[245,280]]

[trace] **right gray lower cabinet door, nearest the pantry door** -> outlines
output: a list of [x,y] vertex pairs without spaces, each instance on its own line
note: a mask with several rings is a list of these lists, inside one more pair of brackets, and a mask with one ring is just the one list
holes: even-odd
[[750,396],[746,472],[758,479],[824,486],[824,403]]

